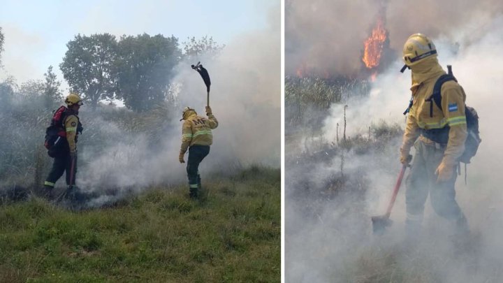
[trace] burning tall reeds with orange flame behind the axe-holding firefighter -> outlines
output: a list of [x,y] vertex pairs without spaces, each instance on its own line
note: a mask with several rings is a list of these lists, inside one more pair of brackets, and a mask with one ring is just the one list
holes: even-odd
[[286,125],[298,126],[299,122],[313,126],[321,125],[326,111],[333,103],[347,103],[350,96],[366,96],[370,82],[377,73],[393,60],[389,48],[388,31],[384,20],[379,17],[370,36],[362,43],[363,57],[360,71],[356,75],[341,75],[328,71],[329,66],[314,67],[302,61],[296,75],[286,76],[285,113]]

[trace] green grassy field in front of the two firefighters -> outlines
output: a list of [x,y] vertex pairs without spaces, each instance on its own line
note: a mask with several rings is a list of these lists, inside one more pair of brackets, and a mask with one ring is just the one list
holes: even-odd
[[0,282],[279,282],[281,175],[251,167],[73,212],[40,198],[0,206]]

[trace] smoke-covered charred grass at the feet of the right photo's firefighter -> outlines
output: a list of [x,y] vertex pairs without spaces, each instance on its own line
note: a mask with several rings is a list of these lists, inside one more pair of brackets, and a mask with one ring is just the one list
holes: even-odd
[[363,161],[385,166],[381,158],[400,136],[398,126],[379,122],[367,136],[286,155],[286,206],[296,212],[285,217],[287,282],[502,282],[500,246],[476,229],[460,240],[435,216],[411,243],[398,217],[372,235],[365,197],[373,184]]

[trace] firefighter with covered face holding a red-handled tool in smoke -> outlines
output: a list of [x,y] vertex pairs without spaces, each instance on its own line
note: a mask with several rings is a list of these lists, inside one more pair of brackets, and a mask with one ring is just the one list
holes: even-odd
[[410,162],[407,177],[406,232],[418,235],[428,193],[438,215],[455,224],[456,232],[469,233],[467,220],[455,201],[458,157],[465,149],[467,123],[464,90],[458,82],[444,82],[441,88],[442,110],[430,99],[435,82],[445,74],[437,60],[435,45],[423,34],[413,34],[404,44],[403,58],[412,73],[412,103],[407,116],[400,162]]

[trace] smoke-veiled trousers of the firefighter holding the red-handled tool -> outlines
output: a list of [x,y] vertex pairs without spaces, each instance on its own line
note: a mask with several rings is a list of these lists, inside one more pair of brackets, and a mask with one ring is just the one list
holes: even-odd
[[458,228],[467,229],[465,215],[455,201],[456,170],[451,180],[446,182],[437,182],[437,175],[435,175],[435,170],[444,157],[445,148],[426,145],[421,140],[416,140],[414,148],[416,154],[406,181],[407,230],[415,233],[421,226],[428,193],[430,193],[430,201],[437,215],[455,222]]

